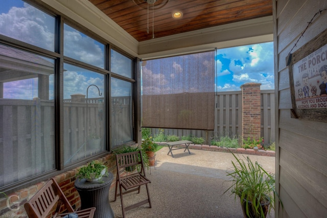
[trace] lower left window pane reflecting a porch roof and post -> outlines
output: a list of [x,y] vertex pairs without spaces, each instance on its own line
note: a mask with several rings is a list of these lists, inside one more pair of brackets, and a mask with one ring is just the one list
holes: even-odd
[[55,168],[54,60],[0,45],[0,187]]

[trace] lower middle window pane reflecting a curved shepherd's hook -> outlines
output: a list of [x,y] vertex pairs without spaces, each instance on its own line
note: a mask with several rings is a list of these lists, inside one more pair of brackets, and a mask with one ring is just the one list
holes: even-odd
[[105,150],[104,75],[64,64],[64,164]]

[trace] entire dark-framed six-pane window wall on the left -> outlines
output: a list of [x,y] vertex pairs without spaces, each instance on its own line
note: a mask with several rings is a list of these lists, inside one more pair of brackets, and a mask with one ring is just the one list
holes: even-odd
[[135,140],[133,59],[42,10],[1,1],[0,191]]

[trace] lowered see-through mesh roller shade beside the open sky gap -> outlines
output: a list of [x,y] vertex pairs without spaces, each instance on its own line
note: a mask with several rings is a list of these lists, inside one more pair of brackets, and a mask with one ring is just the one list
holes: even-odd
[[143,127],[214,129],[215,52],[142,62]]

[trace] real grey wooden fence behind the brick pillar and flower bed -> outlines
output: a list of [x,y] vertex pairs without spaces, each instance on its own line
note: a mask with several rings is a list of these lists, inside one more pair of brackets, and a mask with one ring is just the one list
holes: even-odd
[[[205,105],[203,105],[205,106]],[[165,135],[203,137],[210,144],[213,137],[237,136],[242,133],[242,91],[219,92],[215,96],[215,129],[167,129]],[[158,133],[158,128],[151,128],[152,136]],[[264,144],[275,142],[275,94],[274,90],[261,91],[261,137]]]

